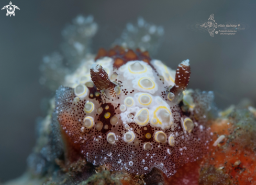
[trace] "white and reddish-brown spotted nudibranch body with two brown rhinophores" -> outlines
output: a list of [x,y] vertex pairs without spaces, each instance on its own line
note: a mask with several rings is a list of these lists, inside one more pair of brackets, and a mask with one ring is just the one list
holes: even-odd
[[157,167],[170,177],[202,157],[209,129],[185,90],[189,60],[175,71],[148,52],[116,46],[85,64],[69,77],[73,88],[57,91],[55,113],[66,141],[88,162],[133,174]]

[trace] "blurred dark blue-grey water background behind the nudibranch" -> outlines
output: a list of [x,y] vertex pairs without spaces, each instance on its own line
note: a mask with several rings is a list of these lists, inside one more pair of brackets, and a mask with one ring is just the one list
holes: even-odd
[[[0,11],[0,181],[20,176],[35,145],[35,125],[46,115],[43,98],[54,96],[39,84],[42,57],[59,50],[61,31],[77,15],[93,15],[98,32],[92,50],[109,48],[128,22],[139,16],[163,26],[154,58],[171,68],[190,59],[189,88],[214,91],[218,108],[242,98],[256,103],[256,1],[13,1],[15,17]],[[1,8],[8,5],[1,1]],[[216,35],[189,29],[214,14],[217,23],[241,21],[246,30]]]

